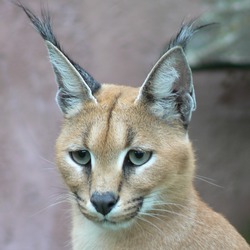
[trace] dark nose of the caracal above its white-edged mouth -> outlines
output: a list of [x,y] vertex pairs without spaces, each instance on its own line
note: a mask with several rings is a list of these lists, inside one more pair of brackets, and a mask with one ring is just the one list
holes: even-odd
[[96,211],[106,215],[108,214],[118,201],[117,196],[114,193],[93,193],[90,201],[95,207]]

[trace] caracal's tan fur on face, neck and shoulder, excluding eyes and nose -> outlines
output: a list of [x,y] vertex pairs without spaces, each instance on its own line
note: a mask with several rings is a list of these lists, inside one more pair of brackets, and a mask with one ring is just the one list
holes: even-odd
[[[229,222],[196,194],[192,145],[181,124],[151,115],[143,103],[135,103],[137,96],[136,88],[103,85],[95,94],[98,104],[85,103],[77,115],[64,120],[56,144],[57,165],[85,208],[80,211],[72,202],[73,249],[249,249]],[[132,145],[127,145],[129,129]],[[95,156],[91,180],[68,156],[83,147]],[[152,150],[155,160],[125,176],[118,156],[127,147]],[[120,196],[120,210],[110,217],[117,225],[98,222],[86,209],[94,191]],[[148,210],[130,220],[128,204],[139,196],[149,199]]]

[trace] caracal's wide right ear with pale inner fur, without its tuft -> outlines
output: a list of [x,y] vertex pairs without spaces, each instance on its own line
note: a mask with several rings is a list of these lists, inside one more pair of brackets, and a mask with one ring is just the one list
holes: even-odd
[[136,102],[165,120],[179,119],[186,128],[196,108],[191,69],[181,47],[174,47],[155,64]]

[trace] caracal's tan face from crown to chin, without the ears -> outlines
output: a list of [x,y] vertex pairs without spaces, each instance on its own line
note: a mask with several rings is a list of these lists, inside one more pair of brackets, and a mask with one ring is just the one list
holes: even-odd
[[57,165],[87,219],[127,227],[161,202],[173,202],[191,171],[190,145],[168,124],[135,103],[138,90],[104,85],[98,104],[65,119]]

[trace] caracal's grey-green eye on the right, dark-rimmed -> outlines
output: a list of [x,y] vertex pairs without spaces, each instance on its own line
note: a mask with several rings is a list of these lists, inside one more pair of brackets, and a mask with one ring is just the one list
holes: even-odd
[[141,166],[151,158],[152,152],[143,151],[141,149],[130,150],[127,154],[127,161],[132,166]]

